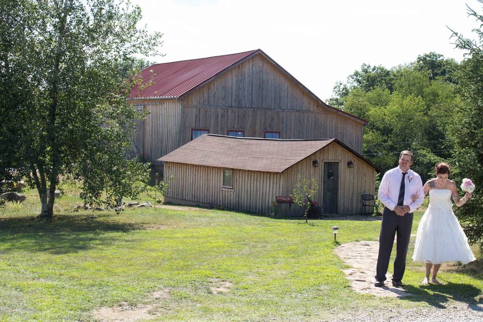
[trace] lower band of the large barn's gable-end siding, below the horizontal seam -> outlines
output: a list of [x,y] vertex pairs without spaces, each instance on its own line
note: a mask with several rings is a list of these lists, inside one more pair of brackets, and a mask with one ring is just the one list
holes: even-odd
[[362,153],[362,124],[336,113],[319,111],[265,110],[249,108],[183,107],[183,144],[191,140],[191,129],[206,128],[211,134],[244,130],[245,137],[264,137],[278,131],[281,139],[337,138]]

